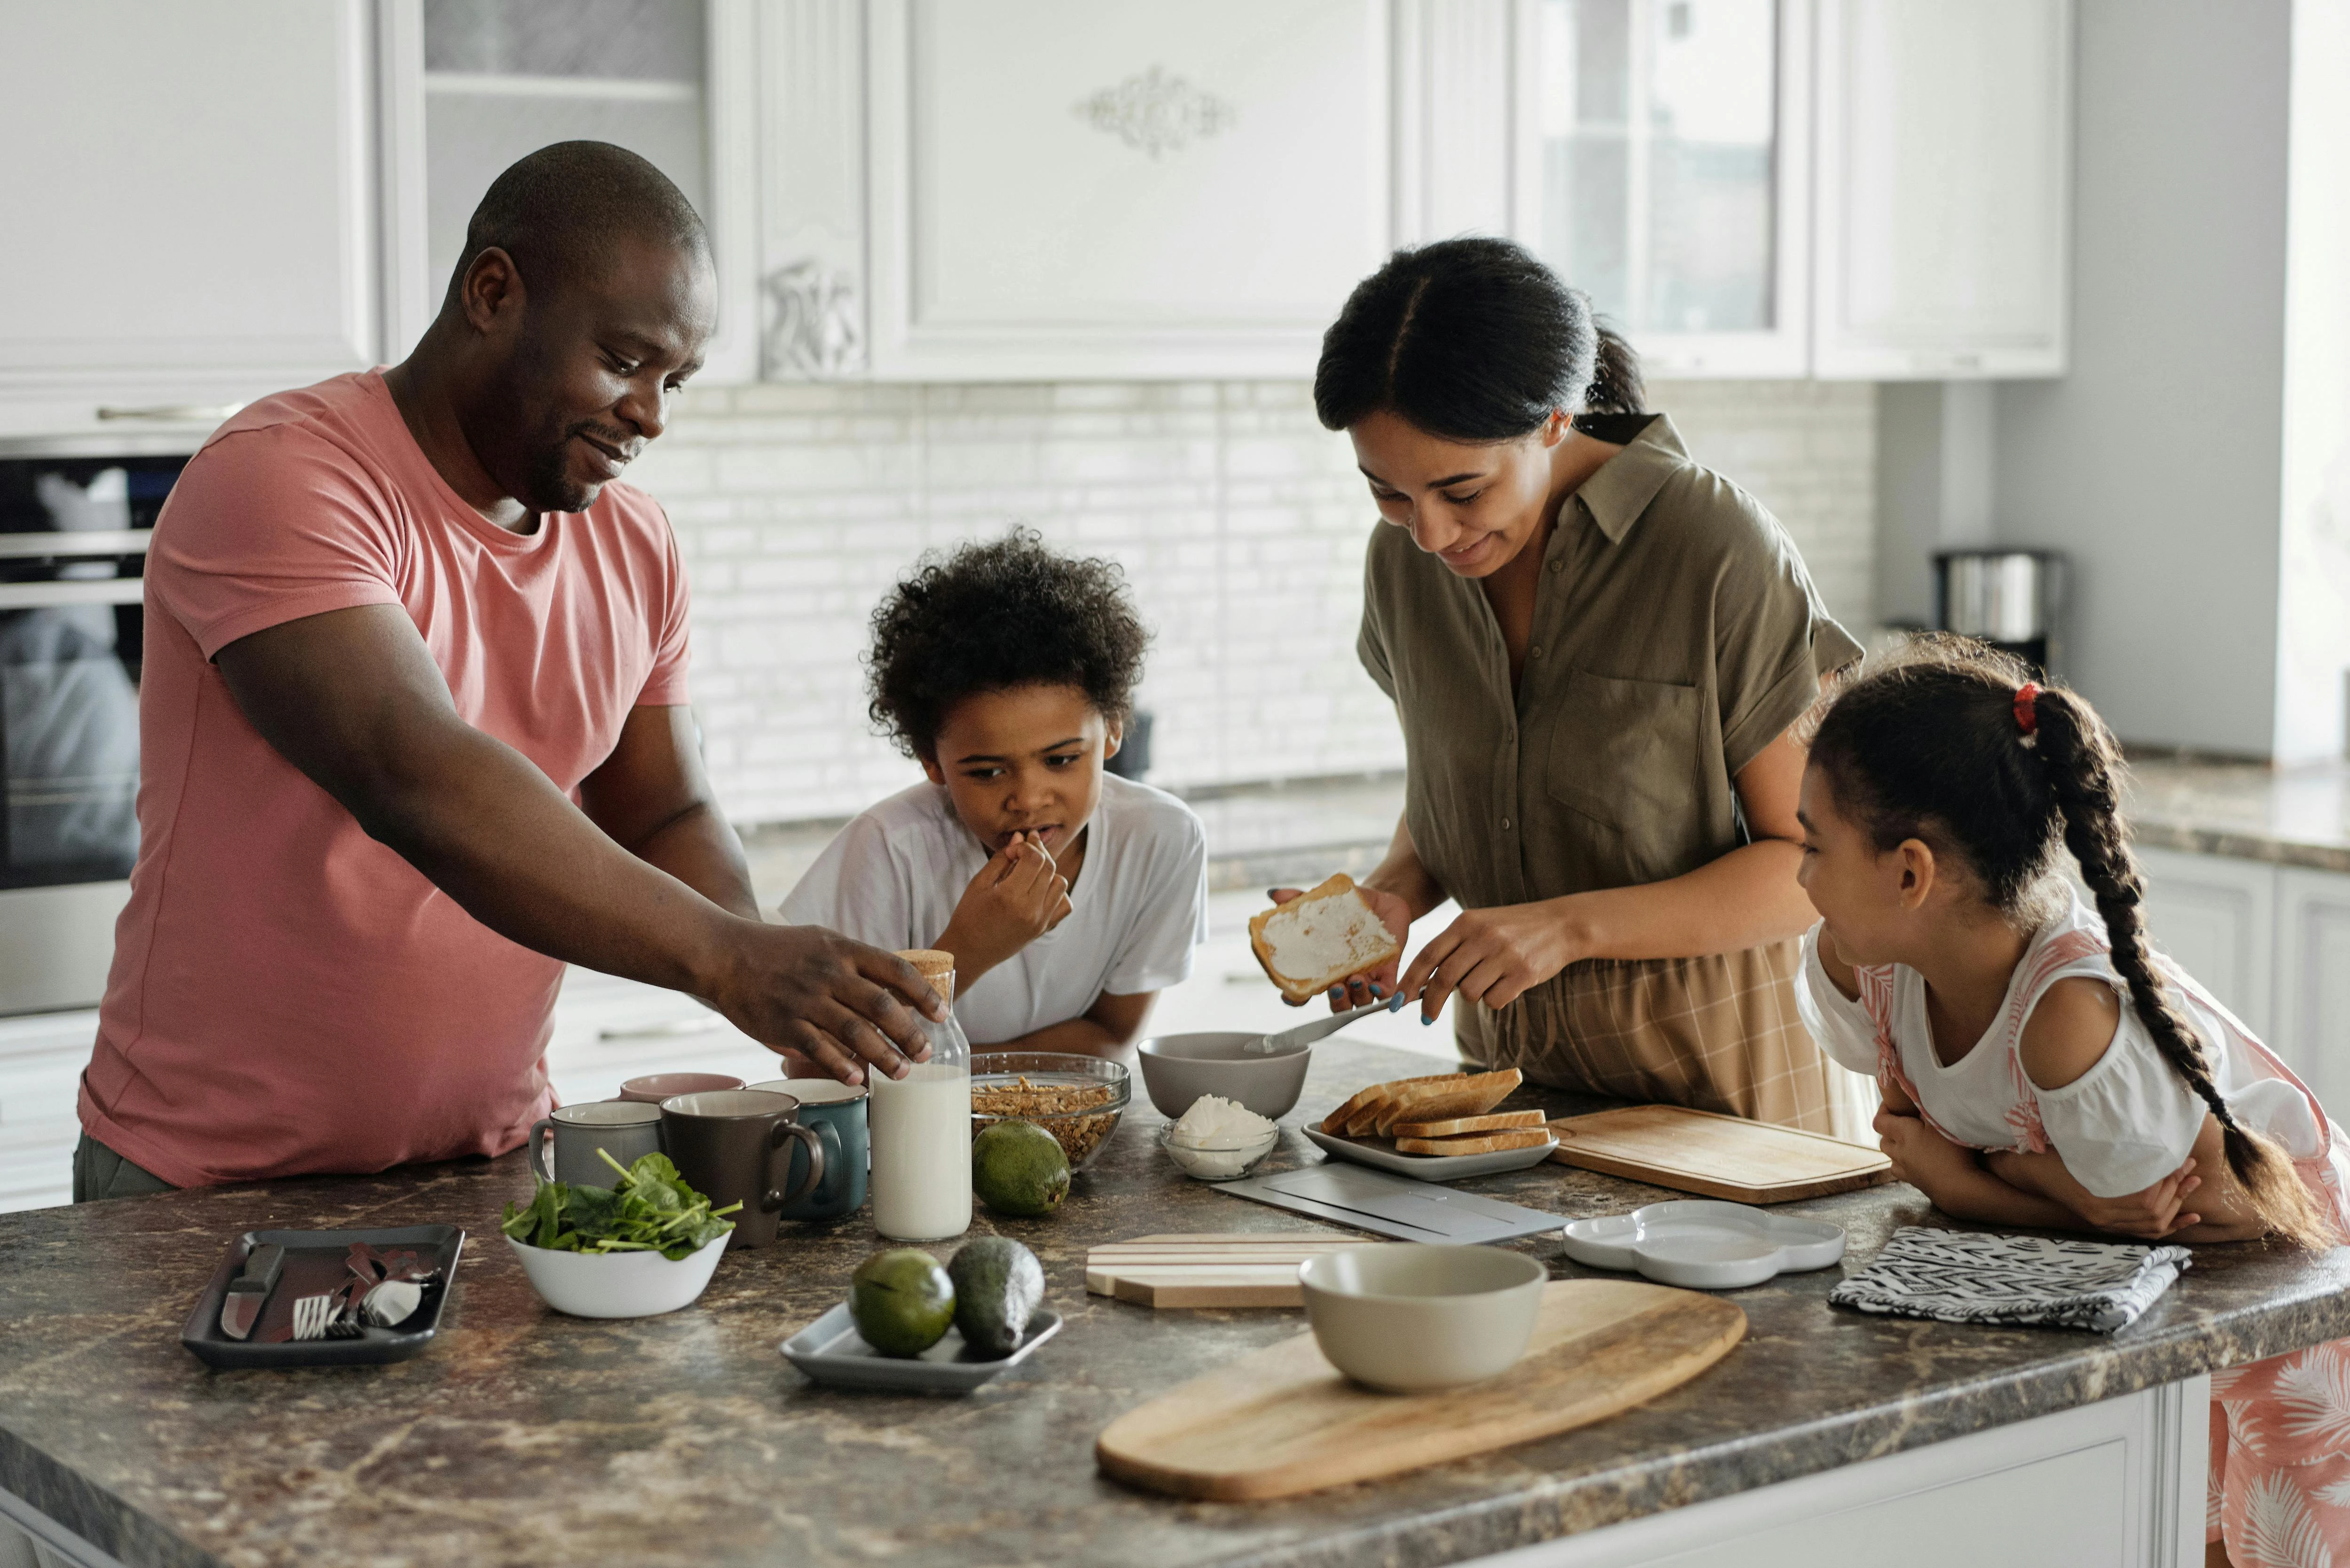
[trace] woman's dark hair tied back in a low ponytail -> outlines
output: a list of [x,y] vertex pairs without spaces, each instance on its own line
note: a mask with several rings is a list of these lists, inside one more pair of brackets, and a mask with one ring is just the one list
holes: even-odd
[[1640,414],[1631,343],[1509,240],[1396,252],[1347,296],[1314,367],[1314,414],[1344,430],[1389,409],[1452,442],[1513,442],[1553,411]]

